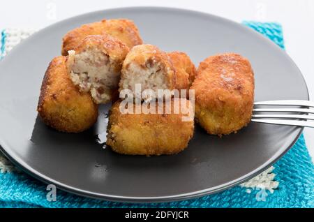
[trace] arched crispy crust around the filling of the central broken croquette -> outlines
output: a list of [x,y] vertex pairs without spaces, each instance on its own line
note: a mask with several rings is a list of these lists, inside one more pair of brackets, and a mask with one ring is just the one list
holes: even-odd
[[[174,75],[174,66],[172,65],[172,61],[167,53],[159,50],[159,48],[155,45],[137,45],[130,50],[122,66],[121,80],[126,78],[125,75],[128,73],[128,68],[131,63],[135,63],[144,69],[146,69],[150,64],[160,64],[166,73],[167,89],[175,89],[176,78]],[[122,81],[120,81],[119,87],[119,91],[121,91],[121,89],[123,89]]]

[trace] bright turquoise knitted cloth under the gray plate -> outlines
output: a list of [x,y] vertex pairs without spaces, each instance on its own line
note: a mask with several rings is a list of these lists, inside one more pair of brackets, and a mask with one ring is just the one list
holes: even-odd
[[[284,48],[281,25],[260,22],[244,22],[244,24]],[[5,31],[2,37],[5,45]],[[4,50],[3,45],[2,50]],[[314,207],[314,166],[303,135],[274,167],[276,174],[274,179],[279,182],[274,193],[264,191],[260,195],[262,190],[248,190],[235,186],[202,198],[150,204],[93,200],[59,190],[57,201],[49,202],[46,199],[45,184],[22,172],[2,172],[0,173],[0,207]]]

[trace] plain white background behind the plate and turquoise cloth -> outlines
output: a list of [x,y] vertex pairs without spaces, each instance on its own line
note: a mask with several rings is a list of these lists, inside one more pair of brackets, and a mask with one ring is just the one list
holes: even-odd
[[[314,0],[7,0],[1,1],[0,29],[40,29],[67,17],[106,8],[168,6],[198,10],[230,20],[280,22],[287,53],[301,69],[314,101]],[[314,157],[314,129],[304,131]]]

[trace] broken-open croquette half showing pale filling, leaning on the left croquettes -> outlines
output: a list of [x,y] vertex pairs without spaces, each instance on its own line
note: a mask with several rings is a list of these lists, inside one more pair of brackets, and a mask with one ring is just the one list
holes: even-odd
[[90,91],[96,103],[108,103],[118,89],[128,51],[128,46],[107,34],[87,36],[75,51],[69,51],[70,78],[80,91]]

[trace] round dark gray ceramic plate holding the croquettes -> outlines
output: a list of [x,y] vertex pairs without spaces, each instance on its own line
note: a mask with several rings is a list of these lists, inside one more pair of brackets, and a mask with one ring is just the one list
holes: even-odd
[[[60,54],[70,29],[103,18],[134,20],[145,43],[187,52],[198,64],[218,52],[251,60],[256,101],[308,99],[304,78],[290,57],[267,38],[221,17],[170,8],[119,8],[73,17],[39,31],[0,62],[0,143],[11,161],[43,182],[92,198],[181,200],[244,182],[280,158],[302,128],[249,124],[222,139],[196,126],[188,148],[174,156],[122,156],[96,142],[105,113],[80,134],[59,133],[37,117],[45,69]],[[103,135],[103,134],[102,134]]]

